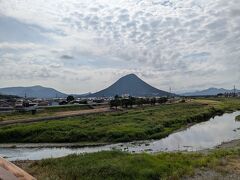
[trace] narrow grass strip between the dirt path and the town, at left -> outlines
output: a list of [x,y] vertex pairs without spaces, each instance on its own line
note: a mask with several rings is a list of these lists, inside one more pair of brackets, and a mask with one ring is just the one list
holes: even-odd
[[47,106],[45,108],[37,110],[37,113],[32,115],[31,112],[14,112],[14,113],[1,113],[0,121],[6,120],[18,120],[18,119],[31,119],[47,116],[57,115],[58,112],[63,111],[77,111],[91,109],[89,105],[66,105],[66,106]]

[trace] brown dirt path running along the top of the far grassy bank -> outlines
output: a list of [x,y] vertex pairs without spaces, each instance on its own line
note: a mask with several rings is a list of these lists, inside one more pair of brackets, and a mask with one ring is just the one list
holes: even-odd
[[79,111],[57,112],[56,115],[54,115],[54,116],[0,121],[0,126],[2,127],[2,126],[7,126],[7,125],[11,125],[11,124],[20,124],[20,123],[34,123],[34,122],[40,122],[40,121],[56,120],[56,119],[63,119],[63,118],[67,118],[67,117],[73,117],[73,116],[98,114],[98,113],[105,113],[105,112],[112,112],[112,110],[108,107],[104,107],[104,108],[87,109],[87,110],[79,110]]

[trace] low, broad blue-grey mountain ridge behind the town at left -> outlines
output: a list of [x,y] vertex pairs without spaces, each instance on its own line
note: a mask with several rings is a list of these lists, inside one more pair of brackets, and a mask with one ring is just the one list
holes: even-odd
[[67,94],[65,93],[43,86],[0,88],[0,94],[14,95],[19,97],[25,97],[26,95],[27,97],[32,98],[67,97]]

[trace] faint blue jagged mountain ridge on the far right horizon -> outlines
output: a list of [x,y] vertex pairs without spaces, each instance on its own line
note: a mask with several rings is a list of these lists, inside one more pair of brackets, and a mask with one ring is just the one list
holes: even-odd
[[[215,96],[218,95],[220,93],[224,94],[224,93],[232,93],[234,92],[234,90],[228,90],[228,89],[224,89],[224,88],[208,88],[208,89],[204,89],[201,91],[194,91],[194,92],[187,92],[187,93],[182,93],[181,95],[183,96]],[[236,93],[239,93],[240,90],[236,89]]]

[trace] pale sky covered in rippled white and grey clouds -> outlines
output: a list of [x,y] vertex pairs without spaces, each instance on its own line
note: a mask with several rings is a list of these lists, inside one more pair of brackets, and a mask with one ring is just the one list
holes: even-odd
[[129,73],[240,88],[240,1],[0,0],[0,87],[96,92]]

